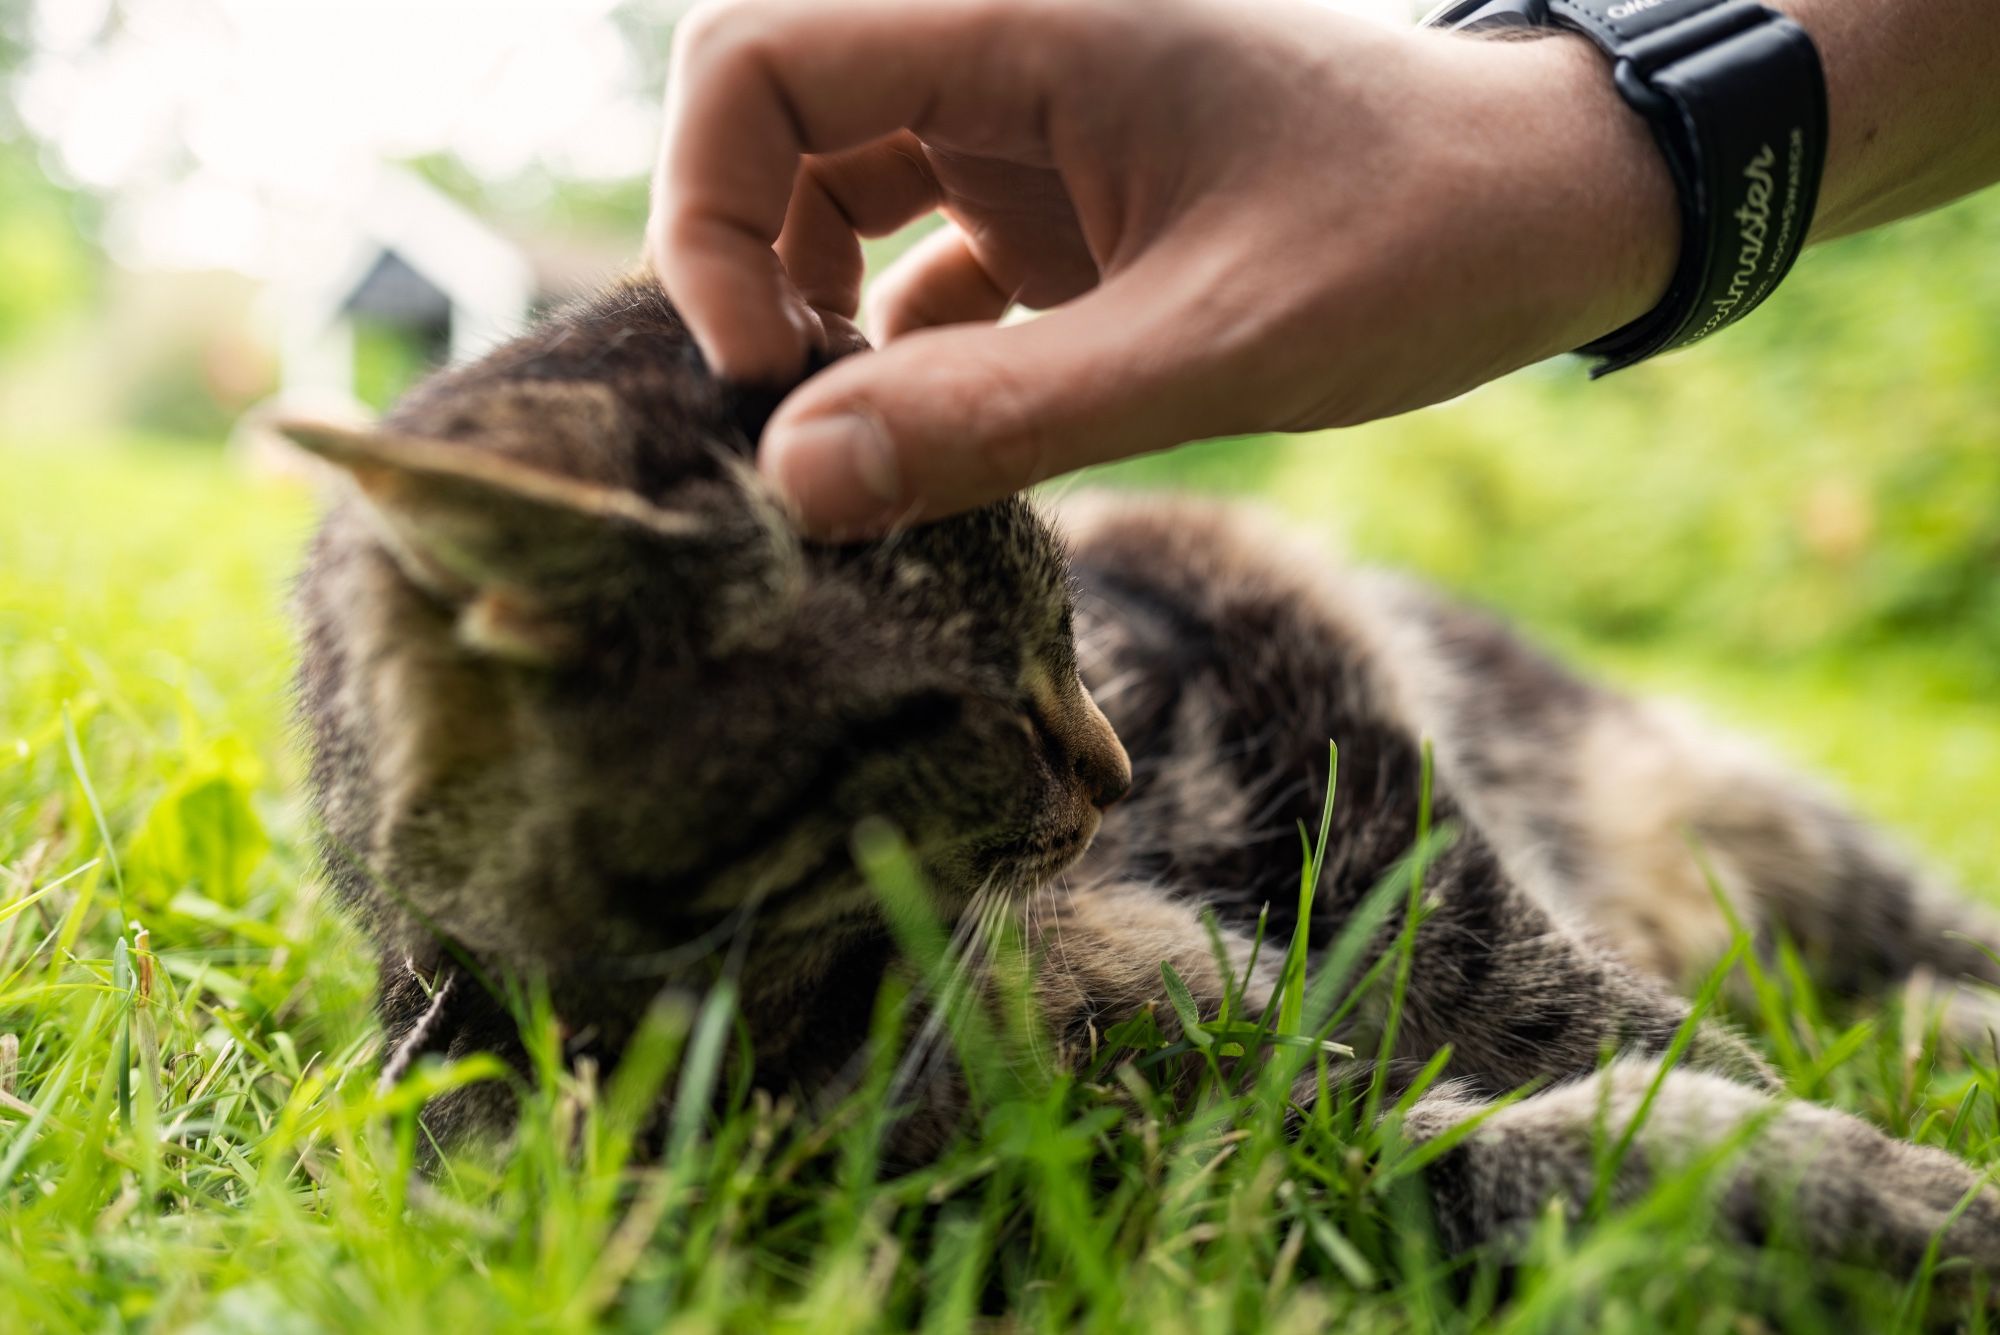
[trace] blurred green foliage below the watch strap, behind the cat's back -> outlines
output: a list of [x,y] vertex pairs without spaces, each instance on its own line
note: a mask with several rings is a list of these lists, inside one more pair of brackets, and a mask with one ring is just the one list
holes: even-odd
[[2000,683],[2000,192],[1806,256],[1746,324],[1600,382],[1114,470],[1268,492],[1544,628],[1798,658],[1922,642]]

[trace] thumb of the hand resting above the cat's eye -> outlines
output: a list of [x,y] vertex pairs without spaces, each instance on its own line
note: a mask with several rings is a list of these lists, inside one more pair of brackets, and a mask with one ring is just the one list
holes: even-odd
[[1186,320],[1104,286],[1046,316],[918,330],[800,386],[758,468],[816,538],[854,540],[1086,464],[1216,434]]

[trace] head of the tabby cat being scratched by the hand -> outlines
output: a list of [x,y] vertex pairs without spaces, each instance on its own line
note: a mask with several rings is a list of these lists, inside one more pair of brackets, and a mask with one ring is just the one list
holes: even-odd
[[[944,907],[1082,853],[1130,769],[1040,516],[806,544],[670,312],[556,328],[382,430],[288,428],[354,484],[306,576],[308,713],[364,755],[322,765],[328,811],[370,813],[336,835],[496,947],[578,915],[634,947],[752,901],[794,929],[850,917],[864,817],[904,831]],[[340,658],[318,693],[316,652]]]

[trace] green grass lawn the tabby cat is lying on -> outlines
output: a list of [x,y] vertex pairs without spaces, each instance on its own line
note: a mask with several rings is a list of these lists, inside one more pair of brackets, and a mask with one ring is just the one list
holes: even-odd
[[[986,1035],[1016,1059],[982,1067],[982,1119],[906,1175],[880,1173],[892,1055],[808,1117],[728,1087],[726,997],[662,1005],[614,1077],[558,1071],[544,1017],[520,1153],[412,1183],[424,1093],[492,1069],[424,1065],[376,1091],[370,961],[310,893],[280,608],[308,504],[166,444],[6,464],[0,1031],[18,1055],[0,1041],[0,1331],[958,1331],[980,1313],[1032,1329],[1850,1331],[1924,1315],[1922,1293],[1876,1275],[1718,1247],[1700,1163],[1584,1227],[1550,1217],[1506,1293],[1448,1271],[1418,1159],[1394,1117],[1366,1115],[1380,1091],[1284,1125],[1278,1091],[1314,1061],[1292,1037],[1304,997],[1342,995],[1338,961],[1288,971],[1284,1041],[1208,1033],[1186,1113],[1130,1071],[1040,1081],[1016,1035]],[[1948,869],[2000,883],[1984,801],[2000,715],[1920,650],[1756,664],[1686,642],[1570,648],[1752,725]],[[894,891],[894,845],[876,855]],[[902,905],[906,939],[932,939],[920,899]],[[1740,1019],[1798,1093],[2000,1163],[2000,1069],[1934,1061],[1894,1011],[1824,1019],[1786,971],[1762,997]],[[884,1035],[900,1015],[884,997]],[[682,1095],[674,1151],[638,1167],[634,1127],[662,1087]],[[708,1117],[714,1097],[726,1111]]]

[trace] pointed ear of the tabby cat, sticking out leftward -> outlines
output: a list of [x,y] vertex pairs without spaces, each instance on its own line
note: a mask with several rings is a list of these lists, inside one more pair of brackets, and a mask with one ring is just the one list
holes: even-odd
[[666,510],[458,442],[322,422],[278,430],[354,480],[402,572],[460,608],[460,638],[502,658],[564,658],[584,614],[662,568],[684,576],[674,604],[694,618],[796,560],[796,540],[742,504]]

